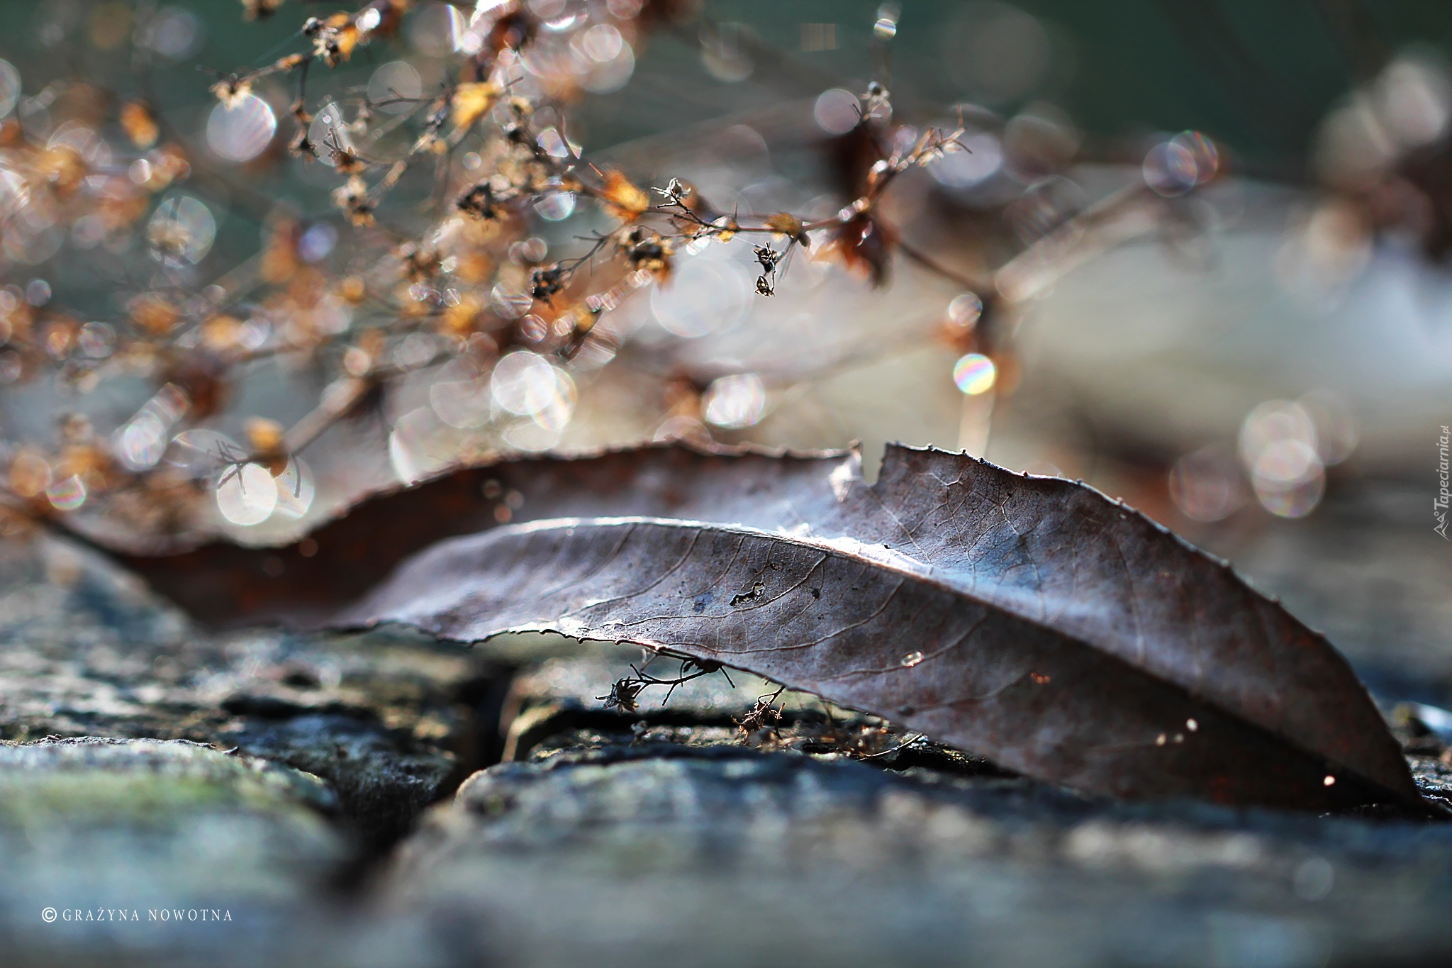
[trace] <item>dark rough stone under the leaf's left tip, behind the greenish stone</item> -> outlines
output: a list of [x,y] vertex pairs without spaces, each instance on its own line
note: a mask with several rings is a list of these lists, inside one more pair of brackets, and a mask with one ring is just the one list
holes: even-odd
[[[386,846],[494,759],[499,669],[418,637],[211,637],[60,543],[0,543],[0,739],[187,739],[325,779]],[[491,698],[491,688],[495,689]]]

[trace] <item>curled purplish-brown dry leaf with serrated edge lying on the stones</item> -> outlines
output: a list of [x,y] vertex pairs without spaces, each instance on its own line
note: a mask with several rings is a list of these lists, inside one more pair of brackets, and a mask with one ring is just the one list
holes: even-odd
[[296,550],[132,563],[195,611],[296,620],[433,546],[328,624],[639,643],[1101,794],[1420,804],[1340,655],[1221,562],[1067,480],[905,447],[876,485],[858,469],[678,446],[534,459],[373,499]]

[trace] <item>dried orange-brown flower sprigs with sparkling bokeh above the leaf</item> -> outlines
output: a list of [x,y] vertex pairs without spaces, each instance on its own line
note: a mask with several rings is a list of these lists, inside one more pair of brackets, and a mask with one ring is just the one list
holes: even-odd
[[[241,13],[254,20],[293,7],[244,0]],[[197,90],[215,96],[205,148],[168,120],[148,80],[174,35],[160,20],[174,16],[167,10],[138,9],[126,33],[135,93],[57,83],[28,100],[44,102],[44,126],[20,112],[0,125],[0,245],[16,267],[0,290],[0,385],[61,396],[48,403],[60,414],[54,443],[3,444],[10,525],[84,511],[113,531],[170,540],[222,522],[296,520],[319,488],[309,448],[379,415],[420,373],[431,374],[433,411],[460,431],[446,459],[549,448],[575,417],[578,379],[623,350],[627,334],[611,325],[611,311],[736,237],[759,267],[758,298],[777,293],[799,250],[873,284],[887,280],[900,251],[979,287],[903,245],[883,213],[900,176],[964,147],[961,131],[894,123],[878,83],[861,93],[857,123],[839,139],[855,158],[849,202],[825,218],[725,210],[684,179],[642,186],[582,157],[571,106],[624,83],[650,30],[694,16],[696,4],[370,0],[327,16],[298,10],[286,44],[295,49],[197,78]],[[360,52],[402,44],[427,17],[444,17],[449,38],[433,55],[436,78],[395,61],[366,86],[348,80]],[[248,184],[248,173],[287,164],[328,193],[331,215],[314,205],[305,216]],[[209,279],[200,264],[225,215],[203,200],[212,193],[250,210],[264,239]],[[591,231],[575,251],[552,253],[537,235],[542,219],[572,213]],[[122,313],[93,316],[20,274],[62,244],[125,264]],[[977,350],[970,331],[983,302],[961,299],[971,312],[967,303],[950,311],[957,328],[948,329],[963,350]],[[242,399],[256,399],[242,387],[263,364],[306,374],[312,409],[286,425],[238,414]],[[67,393],[138,377],[150,398],[113,431],[65,405]],[[759,387],[754,374],[725,379]],[[992,374],[976,379],[992,383]],[[685,421],[706,432],[704,390],[671,385],[661,427]],[[219,428],[224,415],[231,434]],[[730,414],[716,422],[745,425]],[[405,479],[440,463],[409,432],[395,421],[386,437]]]

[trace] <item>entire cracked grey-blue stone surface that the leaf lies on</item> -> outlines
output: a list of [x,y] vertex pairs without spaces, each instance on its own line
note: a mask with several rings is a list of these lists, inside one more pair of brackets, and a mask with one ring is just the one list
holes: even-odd
[[746,675],[604,711],[640,652],[552,649],[212,637],[0,546],[3,964],[1452,956],[1452,824],[1105,803],[810,697],[742,730]]

